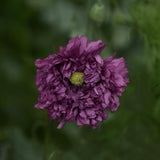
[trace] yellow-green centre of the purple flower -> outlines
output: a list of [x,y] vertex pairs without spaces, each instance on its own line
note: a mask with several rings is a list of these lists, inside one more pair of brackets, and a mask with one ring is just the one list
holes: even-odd
[[83,76],[84,76],[83,72],[74,72],[74,73],[72,73],[72,75],[70,77],[70,81],[75,86],[80,86],[84,82]]

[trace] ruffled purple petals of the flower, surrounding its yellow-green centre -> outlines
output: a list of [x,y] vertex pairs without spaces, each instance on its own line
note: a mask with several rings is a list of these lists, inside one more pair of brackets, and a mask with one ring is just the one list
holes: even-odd
[[[62,126],[76,121],[79,126],[98,128],[108,117],[105,111],[115,111],[119,96],[129,79],[124,58],[111,56],[103,61],[100,56],[106,45],[101,40],[87,44],[87,37],[71,39],[59,53],[37,59],[36,84],[39,97],[37,109],[46,109],[50,120],[57,119]],[[70,82],[74,72],[83,72],[84,83]]]

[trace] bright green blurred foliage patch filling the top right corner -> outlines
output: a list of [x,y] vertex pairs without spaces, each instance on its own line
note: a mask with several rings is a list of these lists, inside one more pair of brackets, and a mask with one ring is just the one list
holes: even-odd
[[139,3],[132,8],[131,15],[135,28],[151,46],[160,46],[160,1],[153,3]]

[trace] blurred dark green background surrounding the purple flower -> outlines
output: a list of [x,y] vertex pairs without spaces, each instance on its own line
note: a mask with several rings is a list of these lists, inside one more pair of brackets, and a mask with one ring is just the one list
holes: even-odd
[[[159,10],[159,0],[2,0],[0,160],[159,160]],[[102,39],[102,57],[116,51],[129,69],[120,107],[98,130],[57,130],[34,108],[34,61],[77,34]]]

